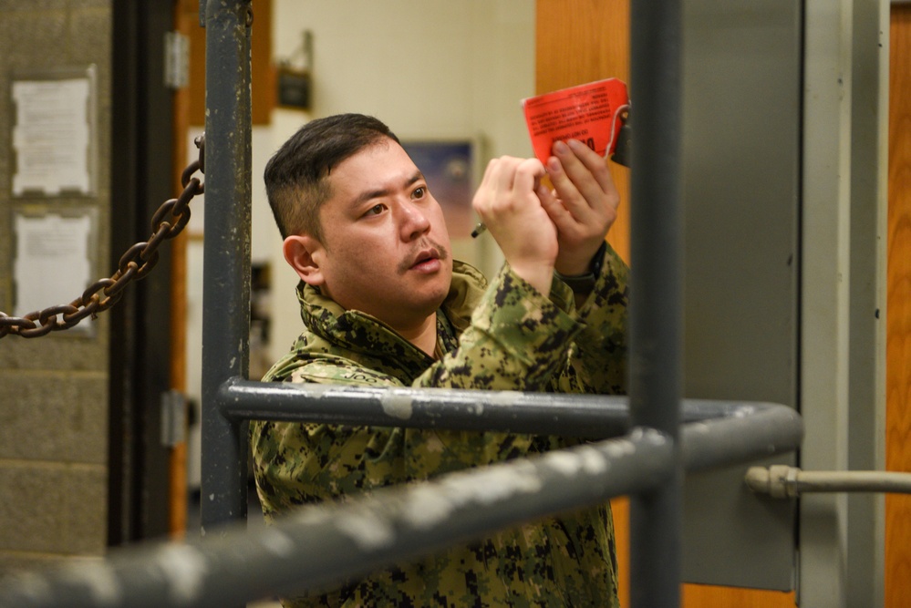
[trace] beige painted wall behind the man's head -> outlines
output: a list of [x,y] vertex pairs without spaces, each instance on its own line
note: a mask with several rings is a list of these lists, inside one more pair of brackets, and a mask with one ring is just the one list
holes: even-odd
[[[533,0],[275,0],[273,27],[279,58],[293,55],[305,29],[314,34],[313,111],[276,109],[273,148],[310,117],[356,111],[402,139],[478,137],[487,158],[531,156],[520,100],[534,94]],[[262,174],[254,166],[254,200],[264,196]],[[274,231],[273,359],[301,329],[280,244]],[[453,249],[489,274],[501,260],[489,235]]]

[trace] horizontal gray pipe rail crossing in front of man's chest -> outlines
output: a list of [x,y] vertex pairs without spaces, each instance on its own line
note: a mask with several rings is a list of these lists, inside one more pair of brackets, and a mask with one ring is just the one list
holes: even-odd
[[[771,417],[782,421],[785,448],[802,437],[801,417],[771,403],[685,399],[684,423],[746,424]],[[233,378],[219,392],[229,420],[279,420],[334,425],[509,431],[533,435],[611,438],[631,428],[629,399],[604,395],[564,395],[446,388],[391,388],[254,382]],[[694,429],[705,428],[693,427]],[[694,438],[698,435],[694,435]],[[732,453],[737,446],[731,445]]]

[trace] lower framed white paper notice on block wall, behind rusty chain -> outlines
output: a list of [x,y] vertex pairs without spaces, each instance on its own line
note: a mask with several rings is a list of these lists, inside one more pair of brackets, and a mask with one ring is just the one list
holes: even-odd
[[[14,314],[23,316],[48,306],[69,304],[82,295],[91,281],[89,242],[93,223],[90,213],[15,214]],[[83,323],[74,329],[88,329],[89,325]]]

